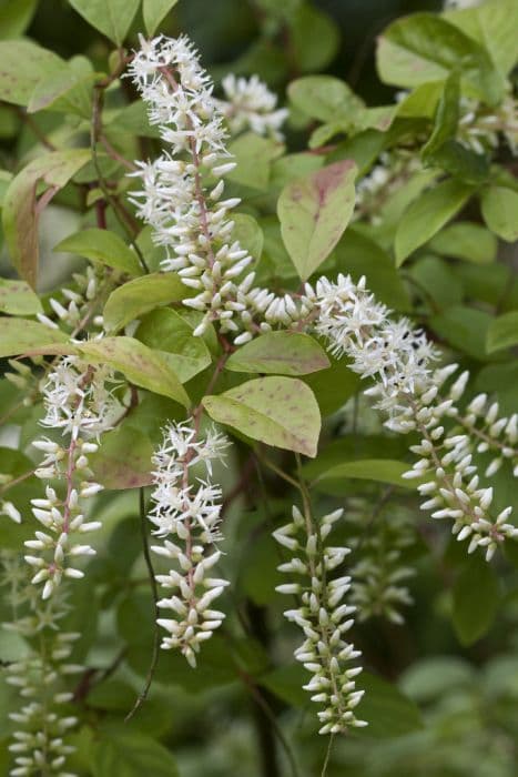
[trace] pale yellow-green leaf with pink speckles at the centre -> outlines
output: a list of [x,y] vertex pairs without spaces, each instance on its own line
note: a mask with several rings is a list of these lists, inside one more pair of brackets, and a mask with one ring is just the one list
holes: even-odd
[[203,405],[219,423],[274,447],[316,455],[321,413],[305,383],[293,377],[258,377]]

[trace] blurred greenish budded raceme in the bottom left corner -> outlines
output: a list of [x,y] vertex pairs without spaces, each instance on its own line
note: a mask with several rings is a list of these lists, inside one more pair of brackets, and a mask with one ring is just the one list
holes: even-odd
[[[67,757],[74,747],[67,743],[68,731],[78,719],[71,714],[73,694],[65,688],[65,678],[82,672],[83,667],[70,662],[75,632],[60,632],[60,620],[68,608],[59,596],[41,602],[38,592],[27,584],[27,567],[18,557],[7,553],[2,556],[1,582],[11,589],[9,601],[16,614],[24,607],[27,614],[3,627],[16,632],[29,645],[27,653],[8,662],[6,682],[19,689],[23,699],[19,710],[9,717],[17,724],[9,750],[14,757],[10,770],[12,777],[55,774],[73,777],[64,771]],[[14,588],[13,588],[14,586]]]

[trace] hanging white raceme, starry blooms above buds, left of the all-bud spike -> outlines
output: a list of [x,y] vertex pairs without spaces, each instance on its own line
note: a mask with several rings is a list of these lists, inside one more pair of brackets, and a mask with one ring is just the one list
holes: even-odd
[[[163,544],[152,546],[152,551],[174,563],[166,574],[156,575],[162,588],[172,592],[158,603],[173,614],[158,620],[167,632],[162,647],[179,648],[193,667],[202,642],[224,618],[223,613],[212,609],[212,603],[227,582],[207,573],[221,557],[215,547],[221,538],[221,488],[210,480],[212,461],[221,460],[226,445],[226,438],[214,431],[199,438],[192,420],[187,420],[166,427],[153,456],[154,505],[149,517],[155,526],[153,534]],[[196,476],[196,468],[205,480]]]

